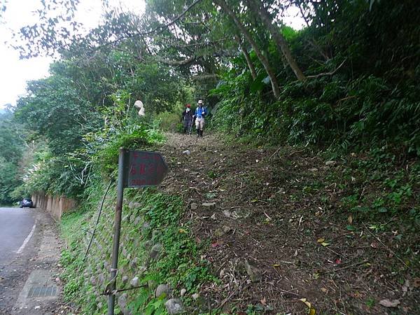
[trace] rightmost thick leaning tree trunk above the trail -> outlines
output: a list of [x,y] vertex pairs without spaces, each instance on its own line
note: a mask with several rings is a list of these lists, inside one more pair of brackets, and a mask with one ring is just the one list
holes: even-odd
[[267,27],[269,32],[272,34],[277,48],[281,50],[281,52],[283,52],[283,55],[286,58],[288,65],[290,66],[290,68],[292,68],[293,72],[295,73],[297,80],[306,80],[307,78],[306,76],[304,76],[299,66],[297,66],[295,58],[293,58],[292,53],[290,52],[290,49],[288,48],[288,45],[286,43],[286,39],[284,39],[283,37],[283,34],[281,34],[279,29],[272,24],[272,18],[270,17],[268,10],[267,8],[265,8],[264,4],[260,2],[260,0],[247,0],[247,3],[253,11],[253,13],[257,16],[260,16],[265,27]]

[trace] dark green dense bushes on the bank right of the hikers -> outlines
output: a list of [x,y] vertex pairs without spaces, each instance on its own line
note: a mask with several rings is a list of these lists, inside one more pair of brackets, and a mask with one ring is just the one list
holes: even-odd
[[[325,6],[328,12],[329,2],[318,9]],[[419,7],[414,1],[377,1],[369,10],[364,1],[338,2],[339,10],[317,16],[302,31],[283,29],[307,72],[328,74],[299,82],[288,69],[277,68],[283,85],[273,102],[267,99],[269,80],[262,66],[255,60],[260,75],[253,80],[244,59],[234,59],[232,70],[211,91],[220,99],[216,125],[274,144],[366,148],[390,143],[419,156],[420,54],[414,38],[420,31],[414,22]],[[326,61],[314,62],[320,51]]]

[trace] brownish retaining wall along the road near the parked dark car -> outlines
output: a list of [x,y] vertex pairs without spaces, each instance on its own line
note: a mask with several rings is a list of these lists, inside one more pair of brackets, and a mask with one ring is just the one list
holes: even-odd
[[32,195],[34,207],[44,209],[57,220],[67,211],[76,207],[76,201],[62,196],[50,196],[39,192]]

